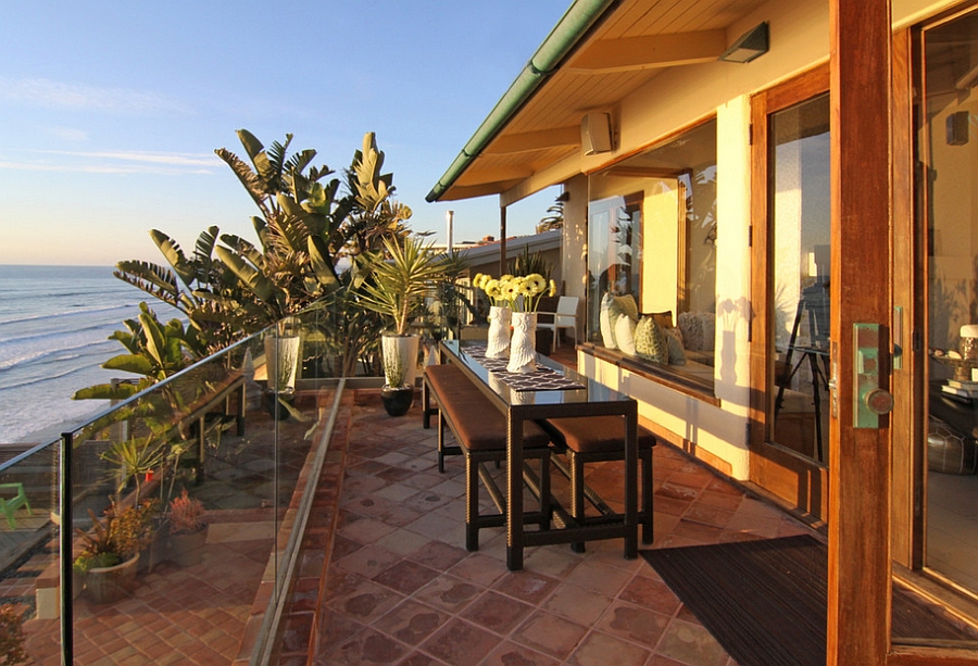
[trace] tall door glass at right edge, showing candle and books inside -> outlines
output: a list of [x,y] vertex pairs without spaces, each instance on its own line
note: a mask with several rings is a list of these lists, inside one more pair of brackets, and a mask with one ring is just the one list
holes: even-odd
[[978,593],[978,14],[923,32],[925,565]]

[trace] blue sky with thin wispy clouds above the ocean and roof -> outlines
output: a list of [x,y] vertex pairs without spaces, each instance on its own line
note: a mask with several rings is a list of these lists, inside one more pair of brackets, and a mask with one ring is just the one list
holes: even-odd
[[[375,131],[414,230],[497,235],[496,197],[424,198],[570,0],[0,4],[0,264],[162,263],[209,225],[254,240],[254,209],[214,155],[294,135],[349,165]],[[553,189],[511,206],[531,234]]]

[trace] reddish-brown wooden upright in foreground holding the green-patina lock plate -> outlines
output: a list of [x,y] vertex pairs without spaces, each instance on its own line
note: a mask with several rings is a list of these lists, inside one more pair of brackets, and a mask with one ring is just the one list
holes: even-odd
[[[882,666],[890,644],[890,437],[853,425],[855,323],[890,322],[890,0],[829,0],[831,344],[828,666]],[[888,354],[879,376],[889,389]]]

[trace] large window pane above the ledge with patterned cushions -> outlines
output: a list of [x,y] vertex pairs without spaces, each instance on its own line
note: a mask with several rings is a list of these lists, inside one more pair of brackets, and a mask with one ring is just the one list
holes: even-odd
[[[591,176],[589,187],[588,339],[712,392],[716,122]],[[666,355],[650,355],[636,337],[651,326],[643,316]]]

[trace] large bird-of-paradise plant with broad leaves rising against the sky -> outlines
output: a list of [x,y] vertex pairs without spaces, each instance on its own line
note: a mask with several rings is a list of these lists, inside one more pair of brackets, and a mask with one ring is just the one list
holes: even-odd
[[343,374],[352,374],[358,359],[373,353],[383,322],[359,305],[360,278],[339,266],[380,251],[385,240],[405,238],[411,217],[411,209],[392,198],[393,176],[383,172],[384,152],[375,135],[364,135],[341,176],[313,165],[315,150],[290,153],[292,135],[267,148],[247,129],[237,135],[243,156],[225,148],[215,152],[258,208],[251,218],[256,240],[211,226],[187,253],[153,229],[150,237],[165,264],[120,262],[115,275],[175,307],[189,326],[161,326],[143,305],[138,322],[126,322],[128,331],[112,336],[128,353],[105,365],[142,379],[135,386],[90,387],[76,398],[128,398],[188,362],[311,306],[334,310],[322,318],[335,319],[327,330],[340,338]]

